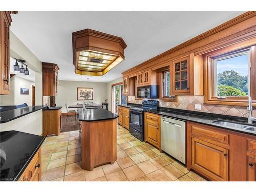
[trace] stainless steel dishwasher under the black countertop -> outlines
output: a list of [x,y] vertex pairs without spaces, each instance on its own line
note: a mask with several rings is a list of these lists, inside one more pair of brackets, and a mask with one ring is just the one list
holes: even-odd
[[186,124],[161,117],[161,150],[186,164]]

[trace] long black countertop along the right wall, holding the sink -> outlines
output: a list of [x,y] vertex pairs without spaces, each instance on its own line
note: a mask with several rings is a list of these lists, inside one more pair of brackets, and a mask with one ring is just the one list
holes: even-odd
[[[136,106],[136,108],[142,108],[142,105],[139,104],[118,104],[119,106],[125,106],[126,108],[131,108]],[[215,126],[219,127],[221,129],[246,133],[250,135],[256,135],[256,132],[250,131],[250,130],[242,130],[239,128],[234,127],[227,127],[224,125],[213,123],[212,121],[216,120],[226,120],[226,121],[232,121],[235,123],[243,123],[247,124],[247,118],[244,117],[236,117],[236,116],[229,116],[229,115],[221,115],[221,114],[212,114],[212,113],[204,113],[204,112],[197,112],[197,111],[188,111],[188,110],[180,110],[180,109],[172,109],[172,108],[163,108],[160,107],[159,110],[144,110],[145,112],[155,113],[161,116],[175,118],[178,120],[183,121],[191,121],[195,123],[201,123],[205,125]],[[249,125],[249,124],[247,124]],[[256,126],[254,124],[254,126]]]

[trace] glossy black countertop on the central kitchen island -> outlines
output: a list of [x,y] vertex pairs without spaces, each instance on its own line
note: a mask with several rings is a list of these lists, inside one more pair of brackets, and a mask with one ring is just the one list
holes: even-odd
[[118,115],[102,108],[86,110],[78,109],[78,114],[80,121],[102,121],[118,117]]

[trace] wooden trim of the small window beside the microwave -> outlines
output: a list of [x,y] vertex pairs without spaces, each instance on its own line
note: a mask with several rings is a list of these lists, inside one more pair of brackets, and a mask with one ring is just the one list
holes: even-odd
[[[159,101],[166,101],[166,102],[177,102],[178,98],[177,96],[175,96],[175,98],[169,98],[167,96],[164,96],[164,82],[163,82],[163,78],[164,78],[164,72],[169,71],[170,68],[169,66],[166,66],[164,68],[161,68],[158,70],[158,82],[159,82]],[[170,78],[171,77],[170,73]],[[171,89],[171,88],[170,88]]]

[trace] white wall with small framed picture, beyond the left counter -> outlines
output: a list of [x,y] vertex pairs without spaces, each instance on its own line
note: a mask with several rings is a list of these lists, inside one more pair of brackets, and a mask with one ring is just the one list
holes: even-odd
[[[32,105],[32,86],[35,83],[24,78],[14,76],[14,105],[27,103],[28,106]],[[28,95],[20,95],[20,88],[29,89]]]

